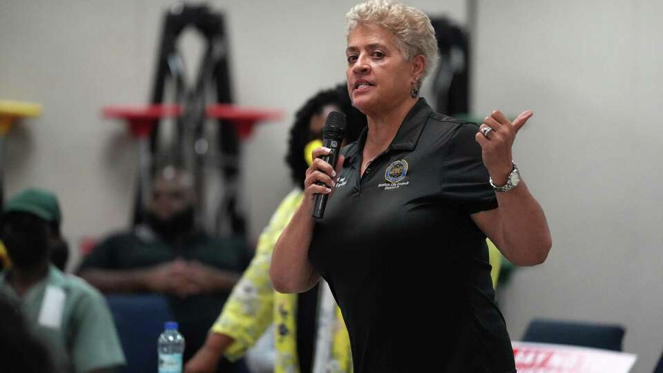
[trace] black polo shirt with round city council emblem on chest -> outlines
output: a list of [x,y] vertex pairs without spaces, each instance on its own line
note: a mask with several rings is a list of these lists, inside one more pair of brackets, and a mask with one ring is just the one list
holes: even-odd
[[343,149],[309,247],[343,311],[355,373],[515,372],[486,236],[470,218],[497,207],[477,125],[419,99],[360,178],[366,131]]

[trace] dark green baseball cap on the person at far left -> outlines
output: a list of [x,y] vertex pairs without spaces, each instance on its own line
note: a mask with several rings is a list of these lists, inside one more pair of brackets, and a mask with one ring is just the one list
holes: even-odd
[[62,219],[57,197],[44,189],[24,189],[8,200],[4,212],[22,211],[33,213],[47,222],[59,223]]

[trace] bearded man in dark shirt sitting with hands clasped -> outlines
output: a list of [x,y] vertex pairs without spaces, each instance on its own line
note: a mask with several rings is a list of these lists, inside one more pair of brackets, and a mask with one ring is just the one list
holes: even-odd
[[[204,343],[249,261],[244,240],[198,229],[194,206],[191,175],[164,166],[153,181],[146,224],[108,236],[79,268],[106,294],[164,294],[186,339],[185,359]],[[230,369],[228,361],[220,365]]]

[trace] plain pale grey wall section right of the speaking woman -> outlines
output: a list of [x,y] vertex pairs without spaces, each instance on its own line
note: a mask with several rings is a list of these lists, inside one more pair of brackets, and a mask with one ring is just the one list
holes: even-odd
[[649,373],[663,350],[661,1],[479,1],[477,113],[535,116],[515,161],[553,231],[501,293],[535,316],[621,323]]

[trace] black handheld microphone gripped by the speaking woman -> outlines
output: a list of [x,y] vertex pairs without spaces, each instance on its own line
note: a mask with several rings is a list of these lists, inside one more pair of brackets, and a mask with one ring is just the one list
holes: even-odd
[[[332,151],[327,155],[320,156],[320,159],[331,164],[334,169],[336,169],[340,143],[343,142],[343,137],[345,137],[345,126],[347,126],[345,122],[345,114],[339,113],[338,111],[332,111],[332,113],[329,113],[327,116],[327,122],[325,122],[325,127],[323,128],[323,146]],[[318,185],[325,186],[325,183],[318,182]],[[325,215],[327,200],[329,200],[329,194],[316,194],[312,215],[314,218],[323,218],[323,215]]]

